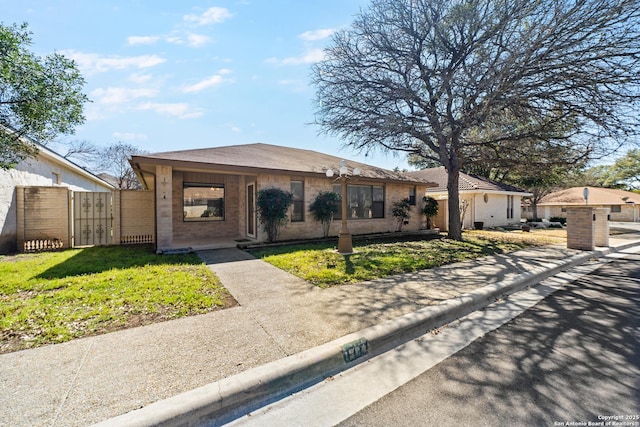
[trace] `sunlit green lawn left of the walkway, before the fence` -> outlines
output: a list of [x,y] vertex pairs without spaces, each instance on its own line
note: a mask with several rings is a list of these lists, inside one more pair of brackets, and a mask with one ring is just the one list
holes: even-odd
[[0,257],[0,352],[233,304],[195,254],[109,246]]

